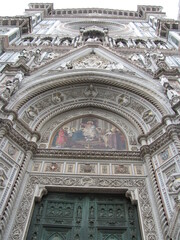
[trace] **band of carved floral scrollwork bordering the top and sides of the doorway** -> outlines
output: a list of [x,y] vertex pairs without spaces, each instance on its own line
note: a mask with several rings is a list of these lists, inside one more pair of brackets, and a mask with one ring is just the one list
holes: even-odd
[[[148,192],[144,179],[118,179],[118,178],[96,178],[96,177],[52,177],[52,176],[31,176],[25,188],[24,196],[19,204],[17,210],[17,215],[15,219],[15,224],[12,228],[9,240],[22,240],[24,239],[23,233],[24,228],[27,226],[28,221],[30,221],[30,209],[34,201],[35,189],[40,187],[38,197],[42,195],[42,190],[48,186],[53,187],[69,187],[71,189],[86,189],[97,188],[103,191],[107,191],[108,188],[114,188],[114,191],[120,189],[129,189],[127,195],[132,198],[135,202],[135,196],[138,195],[138,205],[141,212],[141,223],[143,226],[143,236],[146,240],[158,240],[156,234],[156,227],[152,215],[152,209],[150,205],[150,200],[148,197]],[[137,191],[136,193],[134,190]]]

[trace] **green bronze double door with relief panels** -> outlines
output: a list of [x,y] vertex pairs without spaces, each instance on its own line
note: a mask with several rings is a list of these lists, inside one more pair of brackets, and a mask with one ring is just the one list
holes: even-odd
[[49,193],[27,240],[140,240],[136,206],[123,195]]

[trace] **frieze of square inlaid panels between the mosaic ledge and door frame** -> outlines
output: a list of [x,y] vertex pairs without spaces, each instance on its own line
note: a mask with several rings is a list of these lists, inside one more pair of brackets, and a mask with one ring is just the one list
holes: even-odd
[[75,159],[71,160],[61,160],[59,162],[57,159],[51,161],[43,161],[38,159],[34,161],[32,165],[32,172],[36,173],[51,173],[51,174],[96,174],[96,175],[144,175],[143,163],[131,161],[131,164],[123,161],[114,161],[109,159],[108,161],[95,160],[91,161],[86,159],[81,159],[77,161]]

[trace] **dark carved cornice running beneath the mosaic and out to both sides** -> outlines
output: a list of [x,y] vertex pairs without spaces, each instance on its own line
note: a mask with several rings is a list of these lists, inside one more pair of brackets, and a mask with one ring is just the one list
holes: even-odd
[[[161,135],[159,138],[154,140],[153,143],[150,145],[144,145],[141,147],[140,152],[133,152],[133,151],[83,151],[83,150],[56,150],[56,149],[38,149],[37,144],[35,142],[31,142],[26,140],[23,136],[21,136],[14,128],[13,124],[8,119],[1,119],[0,121],[0,129],[4,129],[4,136],[9,136],[13,141],[15,141],[19,146],[21,146],[25,151],[32,151],[36,153],[37,156],[51,156],[51,157],[67,157],[71,158],[76,156],[76,158],[81,157],[100,157],[100,158],[109,158],[115,157],[119,158],[121,156],[126,158],[141,158],[146,154],[153,154],[155,153],[160,147],[165,145],[171,139],[173,140],[173,135],[177,135],[180,138],[180,127],[179,125],[169,125],[167,127],[167,131]],[[142,137],[142,136],[141,136]]]

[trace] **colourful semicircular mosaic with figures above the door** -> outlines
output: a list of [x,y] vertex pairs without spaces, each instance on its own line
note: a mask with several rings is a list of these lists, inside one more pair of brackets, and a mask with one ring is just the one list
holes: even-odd
[[58,129],[51,140],[53,148],[126,150],[124,134],[111,123],[84,117]]

